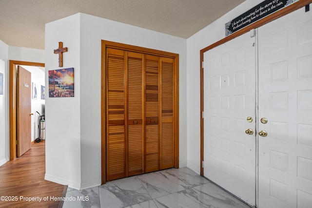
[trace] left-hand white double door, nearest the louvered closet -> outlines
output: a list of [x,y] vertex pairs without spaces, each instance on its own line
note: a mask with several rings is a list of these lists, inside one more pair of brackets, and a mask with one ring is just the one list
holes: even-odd
[[253,206],[255,80],[250,33],[204,53],[204,176]]

